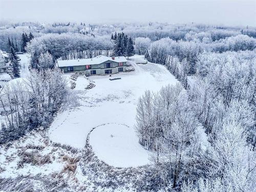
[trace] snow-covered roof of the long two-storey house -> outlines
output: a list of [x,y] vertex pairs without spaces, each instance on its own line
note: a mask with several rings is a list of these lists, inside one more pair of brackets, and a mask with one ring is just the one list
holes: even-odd
[[98,65],[105,61],[114,61],[114,62],[127,62],[124,56],[120,57],[106,57],[99,55],[91,59],[71,59],[71,60],[57,60],[58,67],[70,67],[70,66],[86,66],[86,65]]

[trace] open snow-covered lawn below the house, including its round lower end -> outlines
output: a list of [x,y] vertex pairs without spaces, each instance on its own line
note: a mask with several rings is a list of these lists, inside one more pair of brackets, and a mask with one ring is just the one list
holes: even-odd
[[[147,151],[138,143],[134,130],[137,100],[146,90],[159,91],[162,86],[178,81],[164,66],[155,63],[136,65],[136,59],[141,59],[141,56],[133,56],[129,61],[135,68],[134,72],[111,77],[90,76],[89,80],[95,84],[90,90],[84,90],[88,80],[78,77],[77,87],[71,91],[73,95],[65,104],[68,109],[59,113],[50,127],[50,139],[83,148],[93,127],[110,123],[92,132],[90,143],[96,155],[113,166],[148,163]],[[115,77],[121,79],[109,80]],[[72,108],[74,102],[79,104]],[[69,105],[70,108],[67,107]]]

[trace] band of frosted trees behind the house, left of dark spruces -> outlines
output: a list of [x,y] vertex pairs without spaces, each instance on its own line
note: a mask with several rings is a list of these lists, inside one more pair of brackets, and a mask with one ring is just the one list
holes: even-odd
[[92,58],[102,54],[110,55],[113,42],[109,36],[86,36],[78,33],[46,34],[34,38],[28,45],[27,51],[32,54],[33,62],[38,62],[41,53],[49,52],[54,60],[57,58],[81,59]]

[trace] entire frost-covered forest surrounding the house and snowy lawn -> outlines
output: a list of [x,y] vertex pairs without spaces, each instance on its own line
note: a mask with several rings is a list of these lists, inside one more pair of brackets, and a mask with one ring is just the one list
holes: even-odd
[[50,126],[69,94],[56,60],[143,55],[179,82],[136,101],[136,134],[152,152],[137,190],[256,190],[256,28],[2,22],[0,50],[9,55],[5,72],[14,79],[16,52],[30,55],[26,82],[1,88],[0,144]]

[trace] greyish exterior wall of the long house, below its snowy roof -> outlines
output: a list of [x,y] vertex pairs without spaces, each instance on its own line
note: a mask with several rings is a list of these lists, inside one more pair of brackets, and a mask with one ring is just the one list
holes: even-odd
[[[109,63],[109,62],[111,62],[111,68],[105,68],[106,63]],[[120,67],[118,67],[118,62],[114,62],[114,61],[105,61],[98,65],[91,65],[91,69],[86,69],[86,66],[73,66],[74,71],[71,71],[71,72],[80,72],[86,75],[91,75],[91,71],[95,70],[96,75],[105,75],[105,70],[112,69],[112,74],[114,74],[114,73],[118,73],[118,68],[123,68],[123,72],[125,72],[126,62],[123,62],[123,66],[120,66]],[[64,73],[69,73],[67,67],[60,67],[60,69]]]

